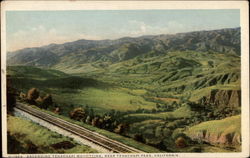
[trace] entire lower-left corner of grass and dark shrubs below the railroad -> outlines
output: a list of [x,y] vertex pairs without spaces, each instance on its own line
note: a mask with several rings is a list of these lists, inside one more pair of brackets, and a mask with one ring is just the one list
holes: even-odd
[[8,153],[97,153],[95,149],[24,118],[8,115]]

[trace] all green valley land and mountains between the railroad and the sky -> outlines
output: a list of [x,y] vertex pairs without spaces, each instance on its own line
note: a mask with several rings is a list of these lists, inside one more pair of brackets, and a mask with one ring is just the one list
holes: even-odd
[[19,100],[153,148],[144,151],[239,152],[238,38],[235,28],[23,49],[8,81]]

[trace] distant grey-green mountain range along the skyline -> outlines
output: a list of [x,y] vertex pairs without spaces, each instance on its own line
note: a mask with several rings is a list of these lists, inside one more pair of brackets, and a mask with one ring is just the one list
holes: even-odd
[[240,28],[50,44],[8,52],[7,64],[60,70],[86,63],[105,67],[136,57],[153,57],[173,51],[218,52],[240,56]]

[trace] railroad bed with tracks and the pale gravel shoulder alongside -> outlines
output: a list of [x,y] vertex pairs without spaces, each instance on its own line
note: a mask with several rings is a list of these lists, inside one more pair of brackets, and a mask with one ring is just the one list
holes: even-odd
[[120,142],[109,139],[100,134],[96,134],[81,126],[72,124],[55,116],[46,114],[32,107],[17,103],[15,115],[30,119],[52,131],[64,136],[73,138],[79,143],[88,145],[102,153],[140,153],[140,150],[134,149]]

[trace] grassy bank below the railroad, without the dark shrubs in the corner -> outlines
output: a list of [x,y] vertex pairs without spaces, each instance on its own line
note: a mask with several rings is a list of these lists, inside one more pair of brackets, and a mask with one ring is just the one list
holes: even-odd
[[[38,147],[39,153],[97,153],[96,150],[78,144],[68,137],[52,132],[38,124],[20,117],[8,115],[7,128],[10,135],[15,137],[25,148],[27,142],[32,142]],[[53,149],[52,144],[62,141],[70,141],[75,144],[71,149]]]

